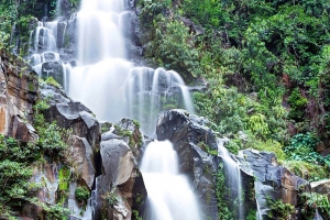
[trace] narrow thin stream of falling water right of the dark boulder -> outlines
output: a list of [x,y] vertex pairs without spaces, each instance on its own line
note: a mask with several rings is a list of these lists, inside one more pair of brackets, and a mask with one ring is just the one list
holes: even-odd
[[233,213],[238,219],[244,219],[244,196],[241,178],[241,169],[237,162],[230,156],[228,150],[223,146],[227,139],[218,139],[218,156],[222,157],[224,165],[224,175],[228,186],[230,187],[230,202]]

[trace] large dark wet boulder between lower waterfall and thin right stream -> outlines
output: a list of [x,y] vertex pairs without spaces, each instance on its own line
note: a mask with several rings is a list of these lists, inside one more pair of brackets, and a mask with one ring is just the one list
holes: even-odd
[[202,206],[202,212],[210,219],[218,219],[216,197],[217,156],[200,148],[208,145],[217,150],[217,139],[206,127],[207,120],[189,116],[185,110],[169,110],[158,116],[156,134],[160,141],[169,140],[178,153],[179,167],[190,178],[195,194]]

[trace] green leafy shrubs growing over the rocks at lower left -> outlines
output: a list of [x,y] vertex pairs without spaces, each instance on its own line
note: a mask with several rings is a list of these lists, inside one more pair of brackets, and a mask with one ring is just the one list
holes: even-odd
[[[38,140],[33,143],[19,142],[10,136],[0,135],[0,219],[15,219],[16,210],[23,204],[31,202],[43,208],[46,219],[66,219],[69,210],[63,208],[61,201],[56,205],[47,205],[36,199],[38,189],[46,187],[45,180],[30,183],[33,170],[43,167],[45,164],[57,164],[64,162],[70,166],[67,155],[66,140],[70,135],[69,130],[61,129],[55,122],[45,121],[42,111],[48,108],[45,100],[35,105],[35,123]],[[65,166],[59,170],[65,169]],[[64,194],[59,197],[67,197],[69,179],[64,179],[59,185],[65,184]],[[61,188],[61,187],[59,187]],[[89,193],[89,191],[88,191]],[[64,202],[64,201],[63,201]]]

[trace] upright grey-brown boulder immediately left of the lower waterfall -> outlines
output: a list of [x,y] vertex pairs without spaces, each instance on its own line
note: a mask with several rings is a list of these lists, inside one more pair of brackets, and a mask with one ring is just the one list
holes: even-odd
[[122,139],[102,141],[100,153],[103,175],[97,180],[95,218],[106,215],[107,219],[131,219],[133,210],[142,211],[141,201],[146,198],[134,155]]

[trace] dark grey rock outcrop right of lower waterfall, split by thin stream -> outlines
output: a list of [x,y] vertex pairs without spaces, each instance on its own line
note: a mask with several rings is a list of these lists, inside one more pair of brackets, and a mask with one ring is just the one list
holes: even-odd
[[[221,155],[218,156],[217,138],[207,127],[207,120],[190,116],[185,110],[169,110],[160,114],[156,133],[160,141],[173,142],[179,155],[180,169],[195,184],[202,211],[211,219],[217,219],[215,176],[219,163],[223,160]],[[256,210],[257,204],[261,215],[267,217],[266,197],[273,200],[280,199],[293,206],[298,205],[298,189],[308,183],[279,166],[273,153],[243,150],[239,156],[231,157],[241,167],[243,216],[246,216],[249,210]],[[323,187],[321,188],[319,190],[323,190]]]

